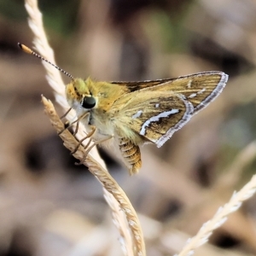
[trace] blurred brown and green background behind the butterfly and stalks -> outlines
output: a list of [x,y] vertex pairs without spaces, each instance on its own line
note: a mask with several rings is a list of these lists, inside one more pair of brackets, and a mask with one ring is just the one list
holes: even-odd
[[[57,64],[74,77],[230,75],[162,148],[142,148],[136,176],[100,148],[139,214],[147,255],[178,253],[256,171],[256,2],[39,0],[39,8]],[[0,0],[0,256],[122,255],[101,185],[74,166],[44,115],[41,94],[54,100],[44,67],[17,47],[32,39],[23,1]],[[255,206],[253,197],[196,255],[256,255]]]

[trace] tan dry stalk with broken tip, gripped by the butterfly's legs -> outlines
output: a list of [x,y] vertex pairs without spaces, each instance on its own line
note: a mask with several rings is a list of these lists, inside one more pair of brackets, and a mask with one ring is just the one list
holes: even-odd
[[[53,104],[44,96],[42,96],[42,102],[44,103],[45,113],[49,116],[50,122],[54,126],[55,130],[57,132],[62,131],[64,125],[61,122],[58,114],[55,112]],[[64,146],[71,152],[73,152],[73,150],[79,145],[79,142],[67,129],[61,132],[60,137],[64,142]],[[83,160],[84,154],[86,153],[85,149],[83,146],[79,146],[78,150],[73,154],[73,156],[78,160]],[[119,202],[119,207],[125,212],[131,233],[134,237],[134,251],[136,255],[146,255],[142,230],[137,221],[137,213],[131,206],[131,202],[125,195],[123,189],[119,187],[118,183],[116,183],[108,171],[105,170],[96,160],[94,160],[90,154],[88,154],[84,165],[88,166],[90,172],[99,180],[100,183],[102,183],[104,189],[113,195],[114,199]]]

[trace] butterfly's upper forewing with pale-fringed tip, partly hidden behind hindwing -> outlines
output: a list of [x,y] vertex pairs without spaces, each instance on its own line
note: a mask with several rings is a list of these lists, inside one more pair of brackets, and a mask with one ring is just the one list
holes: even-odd
[[229,76],[223,72],[212,71],[205,73],[195,73],[177,79],[160,79],[142,82],[112,82],[112,84],[125,85],[133,91],[150,90],[152,91],[173,91],[183,95],[191,102],[194,113],[212,102],[224,89]]

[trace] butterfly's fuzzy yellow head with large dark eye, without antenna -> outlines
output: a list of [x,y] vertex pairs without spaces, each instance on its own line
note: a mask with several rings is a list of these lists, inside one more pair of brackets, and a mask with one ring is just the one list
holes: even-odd
[[67,102],[74,109],[90,110],[96,106],[96,98],[90,92],[91,79],[73,79],[66,86]]

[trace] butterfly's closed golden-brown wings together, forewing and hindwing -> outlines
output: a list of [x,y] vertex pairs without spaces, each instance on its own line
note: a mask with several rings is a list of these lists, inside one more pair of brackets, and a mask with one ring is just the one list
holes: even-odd
[[130,90],[113,103],[113,124],[124,137],[139,134],[160,147],[192,114],[212,102],[227,80],[225,73],[207,72],[177,79],[113,82]]

